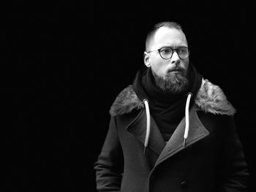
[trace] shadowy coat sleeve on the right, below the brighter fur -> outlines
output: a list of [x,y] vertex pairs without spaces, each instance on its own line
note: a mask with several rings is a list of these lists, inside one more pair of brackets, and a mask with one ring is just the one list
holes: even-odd
[[238,138],[234,119],[228,118],[223,134],[222,155],[219,161],[218,192],[247,191],[249,172],[243,146]]

